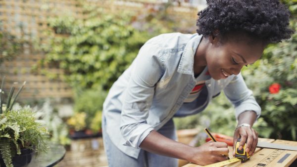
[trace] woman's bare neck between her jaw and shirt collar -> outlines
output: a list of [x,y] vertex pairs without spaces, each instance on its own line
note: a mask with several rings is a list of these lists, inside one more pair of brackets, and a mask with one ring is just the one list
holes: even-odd
[[194,56],[195,76],[199,75],[207,65],[205,54],[208,46],[208,40],[202,37]]

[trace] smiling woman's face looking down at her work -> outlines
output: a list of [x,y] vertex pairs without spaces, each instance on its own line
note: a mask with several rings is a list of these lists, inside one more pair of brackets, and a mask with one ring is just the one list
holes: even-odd
[[226,79],[238,75],[245,65],[253,64],[264,50],[261,42],[247,43],[244,41],[228,41],[221,43],[210,41],[205,58],[210,76],[214,80]]

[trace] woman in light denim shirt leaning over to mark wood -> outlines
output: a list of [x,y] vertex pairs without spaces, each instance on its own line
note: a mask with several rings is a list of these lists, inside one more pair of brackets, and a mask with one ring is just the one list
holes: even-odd
[[289,12],[278,0],[207,0],[198,15],[198,34],[148,40],[111,87],[102,116],[109,167],[227,160],[226,143],[177,142],[172,121],[203,111],[222,90],[235,106],[234,141],[241,136],[241,146],[247,142],[246,151],[253,154],[258,134],[252,125],[261,110],[240,71],[258,60],[268,43],[290,38]]

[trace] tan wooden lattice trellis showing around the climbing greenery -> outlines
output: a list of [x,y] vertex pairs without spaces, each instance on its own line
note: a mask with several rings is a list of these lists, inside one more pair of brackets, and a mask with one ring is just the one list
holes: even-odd
[[[47,36],[43,33],[48,29],[47,19],[52,16],[70,13],[75,17],[83,17],[79,0],[0,0],[1,29],[12,35],[28,41],[39,39],[40,44]],[[141,12],[145,5],[155,5],[137,0],[86,0],[86,3],[97,5],[108,12],[129,10]],[[191,22],[197,17],[197,8],[190,6],[173,6],[168,12]],[[44,69],[54,73],[57,78],[32,72],[32,67],[44,58],[40,52],[34,51],[31,44],[23,44],[23,52],[17,55],[15,60],[4,62],[0,66],[0,80],[6,76],[4,91],[9,90],[14,82],[26,81],[21,98],[45,98],[45,97],[72,97],[72,91],[60,76],[63,71],[45,67]]]

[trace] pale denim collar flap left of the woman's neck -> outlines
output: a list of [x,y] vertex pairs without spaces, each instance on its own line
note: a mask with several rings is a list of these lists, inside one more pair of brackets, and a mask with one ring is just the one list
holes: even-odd
[[177,72],[194,75],[194,56],[201,39],[202,35],[198,35],[197,33],[193,34],[192,38],[185,46]]

